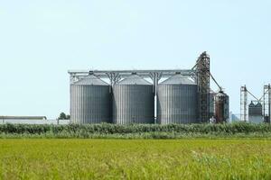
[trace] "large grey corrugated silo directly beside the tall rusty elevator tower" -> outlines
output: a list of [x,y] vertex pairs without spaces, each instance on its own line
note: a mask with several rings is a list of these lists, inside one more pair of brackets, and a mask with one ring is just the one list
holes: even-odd
[[172,76],[158,85],[157,93],[158,123],[198,122],[198,86],[192,80]]

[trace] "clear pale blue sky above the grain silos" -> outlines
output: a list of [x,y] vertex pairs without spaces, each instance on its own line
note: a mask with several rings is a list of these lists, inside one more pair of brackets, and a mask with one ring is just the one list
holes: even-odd
[[239,113],[271,82],[271,1],[0,1],[0,114],[69,112],[68,69],[191,68],[201,51]]

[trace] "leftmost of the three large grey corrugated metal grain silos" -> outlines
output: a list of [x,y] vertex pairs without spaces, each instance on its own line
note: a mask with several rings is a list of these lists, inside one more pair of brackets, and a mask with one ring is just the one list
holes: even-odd
[[110,122],[110,85],[89,75],[70,85],[71,123]]

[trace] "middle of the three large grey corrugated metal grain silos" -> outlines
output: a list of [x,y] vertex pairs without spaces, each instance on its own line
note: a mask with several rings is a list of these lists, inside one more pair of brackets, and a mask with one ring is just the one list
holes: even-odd
[[113,122],[154,123],[153,85],[136,75],[113,85]]

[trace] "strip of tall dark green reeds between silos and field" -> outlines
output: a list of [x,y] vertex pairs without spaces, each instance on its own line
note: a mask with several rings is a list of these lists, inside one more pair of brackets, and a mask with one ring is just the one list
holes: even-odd
[[179,139],[190,137],[270,137],[271,125],[252,123],[225,124],[89,124],[30,125],[2,124],[0,138],[115,138]]

